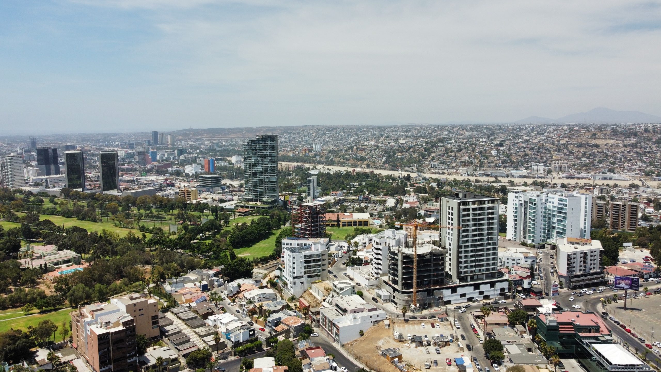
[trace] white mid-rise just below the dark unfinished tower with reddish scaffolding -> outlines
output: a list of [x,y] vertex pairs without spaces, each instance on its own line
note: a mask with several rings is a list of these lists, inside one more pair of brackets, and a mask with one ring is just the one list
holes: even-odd
[[287,293],[300,297],[314,281],[328,280],[329,238],[284,238],[281,244]]

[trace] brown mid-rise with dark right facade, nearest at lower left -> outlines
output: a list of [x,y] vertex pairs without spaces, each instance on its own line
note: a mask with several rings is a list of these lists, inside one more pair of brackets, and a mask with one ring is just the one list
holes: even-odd
[[137,371],[136,319],[114,303],[71,312],[71,346],[95,372]]

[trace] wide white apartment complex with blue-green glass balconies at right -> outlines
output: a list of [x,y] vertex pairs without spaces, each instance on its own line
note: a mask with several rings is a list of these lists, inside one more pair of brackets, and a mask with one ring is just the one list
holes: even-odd
[[592,195],[563,191],[509,193],[506,237],[541,244],[555,238],[590,238]]

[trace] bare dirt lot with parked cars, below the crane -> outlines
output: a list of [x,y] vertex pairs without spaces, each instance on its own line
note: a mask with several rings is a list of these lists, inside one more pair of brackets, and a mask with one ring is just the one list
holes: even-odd
[[[370,369],[376,369],[379,372],[399,372],[397,368],[388,363],[385,357],[379,355],[379,350],[381,349],[394,348],[399,349],[399,352],[402,353],[403,361],[408,365],[408,369],[413,367],[414,369],[424,371],[424,363],[426,361],[433,362],[436,359],[438,361],[438,367],[434,367],[432,364],[430,372],[457,372],[458,369],[454,363],[454,358],[470,355],[470,351],[466,353],[463,349],[459,349],[457,341],[451,346],[440,348],[441,353],[437,354],[433,345],[427,347],[430,352],[427,353],[423,347],[416,348],[413,344],[409,344],[407,340],[399,342],[393,338],[393,332],[401,332],[405,338],[408,334],[416,334],[418,336],[424,336],[426,334],[431,338],[435,334],[449,336],[453,332],[450,329],[449,322],[441,323],[440,329],[431,328],[429,320],[424,321],[426,327],[422,329],[422,322],[421,320],[403,322],[403,320],[391,319],[391,328],[385,328],[383,322],[369,328],[365,336],[356,340],[354,344],[354,355],[356,355],[356,359],[362,361]],[[351,349],[349,351],[351,352]],[[451,366],[446,365],[446,358],[451,359]]]

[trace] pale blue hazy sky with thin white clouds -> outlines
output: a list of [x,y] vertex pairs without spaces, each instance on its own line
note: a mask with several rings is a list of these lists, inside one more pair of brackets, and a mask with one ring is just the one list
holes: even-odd
[[0,2],[0,133],[661,115],[659,1]]

